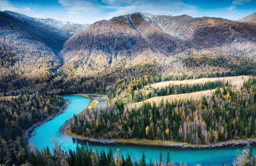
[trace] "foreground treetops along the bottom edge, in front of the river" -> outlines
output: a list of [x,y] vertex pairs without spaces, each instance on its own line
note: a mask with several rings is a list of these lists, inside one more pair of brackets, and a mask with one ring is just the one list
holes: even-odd
[[[163,158],[162,151],[160,151],[157,161],[150,159],[150,162],[147,163],[144,152],[140,159],[136,160],[130,154],[125,157],[123,154],[120,155],[119,149],[116,152],[111,149],[107,152],[98,152],[98,150],[89,149],[87,145],[78,146],[77,144],[76,150],[66,150],[55,138],[52,138],[52,144],[53,153],[50,152],[48,147],[38,150],[34,146],[34,149],[28,153],[26,166],[188,166],[186,161],[174,163],[169,150],[166,158]],[[6,164],[8,165],[8,161]],[[230,166],[255,166],[255,164],[256,159],[253,155],[253,149],[248,144],[241,154],[234,158],[234,162]],[[196,166],[201,166],[201,164],[196,164]],[[209,166],[211,166],[210,163]],[[224,161],[222,166],[226,166]]]

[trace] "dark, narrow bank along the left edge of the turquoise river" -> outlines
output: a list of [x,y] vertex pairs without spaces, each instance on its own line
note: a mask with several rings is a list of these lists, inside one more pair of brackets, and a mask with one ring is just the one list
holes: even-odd
[[59,108],[59,112],[58,112],[56,115],[52,115],[52,116],[48,117],[45,121],[36,123],[36,124],[34,124],[32,127],[30,127],[28,130],[26,130],[26,131],[24,132],[24,135],[23,135],[24,141],[26,142],[26,141],[31,137],[31,132],[32,132],[37,126],[40,126],[41,124],[46,123],[46,122],[52,120],[54,117],[56,117],[56,116],[62,114],[62,113],[66,110],[66,108],[68,107],[69,104],[70,104],[70,101],[65,100],[64,105]]

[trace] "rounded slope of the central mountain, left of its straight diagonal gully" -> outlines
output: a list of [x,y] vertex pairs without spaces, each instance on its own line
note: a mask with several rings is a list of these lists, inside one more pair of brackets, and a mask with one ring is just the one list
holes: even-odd
[[[136,57],[144,59],[160,52],[144,36],[140,35],[125,18],[96,22],[64,44],[63,71],[66,74],[94,71],[126,65]],[[70,71],[67,71],[70,70]]]

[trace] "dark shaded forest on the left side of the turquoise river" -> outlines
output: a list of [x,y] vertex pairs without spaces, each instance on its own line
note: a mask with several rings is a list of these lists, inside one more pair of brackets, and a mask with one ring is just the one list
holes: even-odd
[[0,100],[0,163],[22,165],[28,160],[30,149],[24,131],[48,117],[56,115],[64,99],[45,91]]

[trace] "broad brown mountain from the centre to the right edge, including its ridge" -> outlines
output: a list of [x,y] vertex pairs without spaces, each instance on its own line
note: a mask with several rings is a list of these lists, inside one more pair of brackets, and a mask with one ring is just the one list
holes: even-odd
[[173,61],[170,58],[182,52],[240,50],[255,41],[252,23],[134,13],[96,22],[69,38],[61,51],[64,65],[60,73],[84,77],[145,59],[158,59],[160,65],[166,65],[164,61]]

